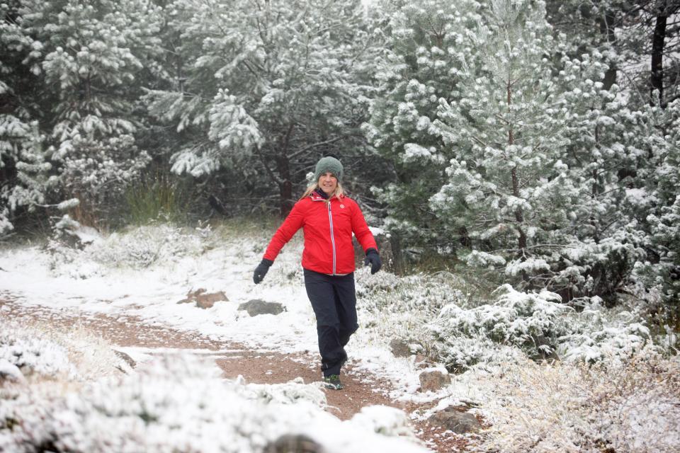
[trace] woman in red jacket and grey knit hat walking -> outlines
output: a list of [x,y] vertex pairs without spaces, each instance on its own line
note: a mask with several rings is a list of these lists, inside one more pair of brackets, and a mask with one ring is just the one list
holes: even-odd
[[340,368],[347,360],[345,345],[358,328],[354,292],[352,233],[366,253],[370,273],[380,270],[378,246],[354,200],[344,195],[342,164],[333,156],[319,160],[314,183],[295,203],[274,234],[253,276],[262,281],[278,252],[295,232],[305,232],[302,268],[305,288],[317,316],[321,369],[329,389],[340,390]]

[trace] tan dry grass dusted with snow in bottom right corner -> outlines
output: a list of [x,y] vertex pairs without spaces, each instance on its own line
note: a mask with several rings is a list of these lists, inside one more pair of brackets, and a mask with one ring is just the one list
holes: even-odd
[[480,451],[678,452],[680,362],[642,350],[596,366],[526,361],[490,377]]

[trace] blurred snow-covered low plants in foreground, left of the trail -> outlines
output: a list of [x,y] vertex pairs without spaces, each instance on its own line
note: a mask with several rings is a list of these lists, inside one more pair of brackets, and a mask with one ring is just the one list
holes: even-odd
[[262,452],[285,435],[328,452],[424,451],[402,411],[373,406],[341,422],[315,384],[229,381],[190,355],[133,370],[86,331],[0,327],[2,451]]

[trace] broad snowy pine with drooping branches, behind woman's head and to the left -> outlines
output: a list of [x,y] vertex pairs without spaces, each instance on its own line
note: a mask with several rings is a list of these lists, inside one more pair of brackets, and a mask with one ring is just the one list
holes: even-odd
[[166,11],[177,81],[146,100],[188,138],[173,170],[241,166],[247,183],[275,185],[287,212],[319,154],[360,135],[353,71],[370,42],[360,2],[182,0]]

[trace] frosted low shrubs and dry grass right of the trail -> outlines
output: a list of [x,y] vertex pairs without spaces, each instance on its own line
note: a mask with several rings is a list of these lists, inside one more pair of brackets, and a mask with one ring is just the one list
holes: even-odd
[[482,303],[441,275],[360,272],[358,285],[358,336],[384,347],[405,340],[454,383],[482,389],[472,400],[451,391],[490,425],[474,451],[677,451],[677,336],[653,335],[635,308],[574,308],[507,285]]

